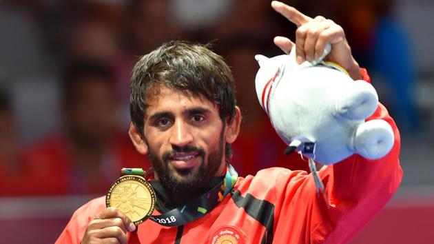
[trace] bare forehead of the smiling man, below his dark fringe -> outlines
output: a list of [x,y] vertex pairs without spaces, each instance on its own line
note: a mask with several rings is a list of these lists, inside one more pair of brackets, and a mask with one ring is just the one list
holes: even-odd
[[218,114],[218,106],[200,94],[157,85],[148,92],[145,116],[155,112],[181,112],[190,108],[206,108]]

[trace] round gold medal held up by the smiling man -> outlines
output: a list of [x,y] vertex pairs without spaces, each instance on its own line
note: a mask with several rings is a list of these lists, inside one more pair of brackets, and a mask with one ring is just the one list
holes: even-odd
[[105,196],[107,207],[116,207],[134,225],[147,220],[154,212],[155,192],[142,176],[127,174],[115,181]]

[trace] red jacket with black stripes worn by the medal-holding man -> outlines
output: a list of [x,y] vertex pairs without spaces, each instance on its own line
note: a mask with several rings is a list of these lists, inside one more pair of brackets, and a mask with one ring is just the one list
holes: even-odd
[[[382,159],[355,154],[322,167],[324,198],[317,197],[307,172],[273,167],[238,178],[233,194],[197,221],[164,227],[148,220],[130,234],[129,243],[346,243],[389,201],[402,179],[395,123],[382,105],[369,119],[391,124],[393,149]],[[56,243],[80,243],[87,224],[105,208],[104,200],[77,210]]]

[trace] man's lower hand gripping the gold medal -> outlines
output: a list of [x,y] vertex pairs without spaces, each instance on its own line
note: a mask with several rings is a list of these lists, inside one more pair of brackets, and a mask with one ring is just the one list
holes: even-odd
[[127,243],[127,232],[136,230],[132,223],[116,207],[107,207],[96,214],[95,218],[87,225],[86,232],[81,240],[82,244],[87,243]]

